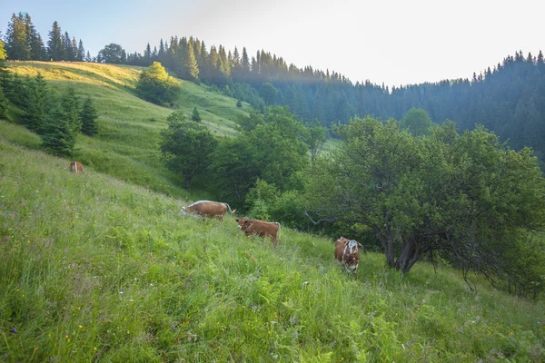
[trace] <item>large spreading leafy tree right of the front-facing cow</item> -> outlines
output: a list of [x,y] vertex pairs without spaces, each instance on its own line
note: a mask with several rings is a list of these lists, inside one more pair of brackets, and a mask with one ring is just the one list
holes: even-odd
[[342,147],[310,184],[313,211],[380,241],[396,269],[437,252],[494,282],[513,270],[513,236],[545,225],[536,158],[483,128],[460,135],[445,123],[421,138],[367,117],[337,132]]

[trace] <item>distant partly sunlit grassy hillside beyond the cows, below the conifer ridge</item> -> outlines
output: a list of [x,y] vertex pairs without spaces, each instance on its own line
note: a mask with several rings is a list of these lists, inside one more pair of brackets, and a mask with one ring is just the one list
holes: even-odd
[[[141,68],[64,62],[11,62],[9,65],[15,74],[34,77],[40,72],[55,90],[63,91],[72,86],[78,96],[94,100],[100,132],[93,138],[78,136],[76,148],[80,151],[74,158],[95,171],[125,181],[170,195],[187,195],[187,191],[176,186],[175,176],[163,168],[158,149],[160,132],[167,125],[166,117],[174,110],[147,103],[134,95]],[[239,109],[233,98],[212,93],[206,86],[181,82],[183,91],[176,102],[179,108],[189,116],[196,106],[203,124],[213,132],[233,135],[233,122],[247,114],[249,105],[244,103],[243,109]],[[38,139],[23,136],[22,132],[7,134],[27,147],[39,147]]]

